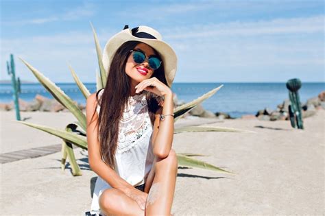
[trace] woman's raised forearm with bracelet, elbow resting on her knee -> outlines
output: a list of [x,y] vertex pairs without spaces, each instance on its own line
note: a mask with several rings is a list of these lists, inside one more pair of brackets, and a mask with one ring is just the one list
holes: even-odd
[[[164,95],[163,108],[157,110],[154,121],[154,131],[152,134],[152,145],[155,156],[166,158],[171,150],[173,143],[173,93],[167,91]],[[160,121],[160,114],[167,115]]]

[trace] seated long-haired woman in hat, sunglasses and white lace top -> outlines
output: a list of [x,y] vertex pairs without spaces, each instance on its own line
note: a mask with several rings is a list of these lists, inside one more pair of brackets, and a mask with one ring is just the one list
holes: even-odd
[[106,87],[87,99],[88,159],[98,178],[94,215],[170,215],[176,186],[173,93],[177,58],[147,26],[106,43]]

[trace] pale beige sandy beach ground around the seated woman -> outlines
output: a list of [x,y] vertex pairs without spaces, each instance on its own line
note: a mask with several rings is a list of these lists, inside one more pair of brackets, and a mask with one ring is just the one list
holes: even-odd
[[[0,112],[1,153],[60,144],[45,132],[12,122],[14,112]],[[31,123],[64,128],[70,113],[21,112]],[[324,115],[304,119],[305,130],[289,121],[181,119],[176,125],[211,123],[256,133],[176,134],[176,152],[237,175],[179,167],[172,213],[175,215],[324,215]],[[91,205],[87,152],[75,149],[83,176],[60,170],[61,153],[1,166],[0,215],[84,215]]]

